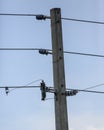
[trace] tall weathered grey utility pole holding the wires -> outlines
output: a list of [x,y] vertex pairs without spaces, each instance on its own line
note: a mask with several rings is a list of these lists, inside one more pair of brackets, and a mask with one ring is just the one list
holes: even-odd
[[53,49],[53,77],[55,94],[55,121],[56,130],[68,130],[66,85],[64,72],[64,55],[62,41],[61,9],[50,11]]

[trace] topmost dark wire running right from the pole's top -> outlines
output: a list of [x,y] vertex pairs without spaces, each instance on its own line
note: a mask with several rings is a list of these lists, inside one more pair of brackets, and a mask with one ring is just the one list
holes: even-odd
[[98,22],[98,21],[91,21],[91,20],[83,20],[83,19],[74,19],[74,18],[62,18],[63,20],[69,20],[74,22],[83,22],[83,23],[92,23],[92,24],[101,24],[103,25],[104,22]]

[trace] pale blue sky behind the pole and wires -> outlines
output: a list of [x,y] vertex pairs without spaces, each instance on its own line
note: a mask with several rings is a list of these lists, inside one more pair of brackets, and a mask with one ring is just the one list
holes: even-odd
[[[62,17],[104,21],[103,0],[0,0],[0,13],[50,15],[59,7]],[[104,25],[62,21],[66,51],[104,55]],[[0,47],[51,49],[50,20],[0,16]],[[37,51],[0,51],[0,86],[26,85],[37,79],[53,86],[52,57]],[[104,59],[65,54],[67,88],[84,89],[104,83]],[[40,81],[33,85],[39,85]],[[104,91],[104,86],[94,90]],[[47,98],[53,98],[48,94]],[[104,130],[104,95],[78,93],[68,97],[70,130]],[[0,91],[1,130],[55,130],[54,100],[41,101],[39,89]]]

